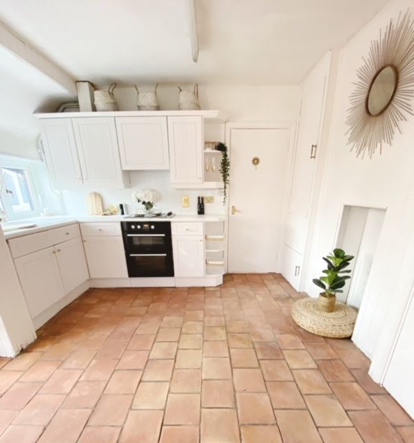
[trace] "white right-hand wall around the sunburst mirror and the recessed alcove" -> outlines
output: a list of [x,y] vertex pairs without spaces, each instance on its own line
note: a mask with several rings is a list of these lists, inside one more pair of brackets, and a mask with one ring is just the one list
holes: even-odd
[[379,337],[384,325],[388,323],[390,307],[404,304],[408,298],[408,287],[406,291],[396,291],[396,287],[402,264],[406,256],[413,253],[407,239],[411,237],[414,226],[414,181],[411,168],[414,162],[414,118],[410,117],[406,123],[402,123],[402,134],[395,135],[393,146],[385,147],[383,153],[375,155],[372,160],[357,159],[350,152],[345,136],[345,120],[350,107],[349,97],[354,88],[352,82],[356,80],[357,68],[363,62],[362,57],[368,53],[371,40],[377,39],[380,28],[384,28],[391,17],[396,18],[407,7],[411,7],[414,15],[412,1],[396,0],[388,3],[343,48],[325,183],[318,208],[306,287],[309,294],[317,295],[318,289],[311,279],[321,272],[321,257],[336,244],[344,205],[387,208],[353,337],[373,363],[381,353]]

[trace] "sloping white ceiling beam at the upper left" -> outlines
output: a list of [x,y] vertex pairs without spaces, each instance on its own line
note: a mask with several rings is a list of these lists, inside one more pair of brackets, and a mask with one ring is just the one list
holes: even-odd
[[25,42],[24,39],[1,23],[1,21],[0,46],[3,46],[12,55],[34,66],[38,71],[42,71],[42,73],[60,84],[72,96],[76,96],[76,84],[71,75],[55,64],[55,62],[52,62],[46,55],[39,52],[34,46]]

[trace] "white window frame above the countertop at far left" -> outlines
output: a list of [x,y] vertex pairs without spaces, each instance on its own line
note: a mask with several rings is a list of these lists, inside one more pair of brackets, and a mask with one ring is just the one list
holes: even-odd
[[[0,200],[1,200],[1,206],[3,206],[3,209],[6,211],[6,216],[8,220],[18,220],[18,219],[25,219],[29,217],[37,217],[41,213],[41,208],[39,204],[39,198],[37,197],[37,190],[35,187],[35,181],[33,180],[33,172],[30,168],[30,161],[26,159],[7,159],[3,160],[0,157],[0,174],[1,168],[12,168],[12,169],[19,169],[24,170],[26,172],[26,178],[28,180],[28,186],[30,190],[30,197],[32,198],[33,203],[33,209],[27,210],[27,211],[19,211],[15,212],[13,210],[12,206],[10,205],[10,199],[8,198],[8,194],[6,192],[6,186],[2,186],[0,189]],[[3,177],[1,177],[3,178]]]

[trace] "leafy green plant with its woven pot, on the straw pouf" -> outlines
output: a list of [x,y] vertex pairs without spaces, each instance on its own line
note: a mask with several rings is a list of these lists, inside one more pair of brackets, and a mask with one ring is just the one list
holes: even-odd
[[321,311],[332,312],[335,309],[336,293],[341,293],[342,288],[345,286],[346,280],[350,275],[350,269],[345,269],[349,266],[350,261],[354,258],[353,255],[346,255],[345,251],[340,248],[334,249],[331,255],[322,257],[327,262],[327,269],[323,269],[323,275],[321,278],[314,278],[312,282],[316,286],[323,289],[323,292],[319,294],[318,308]]

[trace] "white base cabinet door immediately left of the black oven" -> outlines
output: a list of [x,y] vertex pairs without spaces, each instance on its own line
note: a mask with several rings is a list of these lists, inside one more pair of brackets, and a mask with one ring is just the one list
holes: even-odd
[[84,237],[91,278],[127,278],[122,237]]

